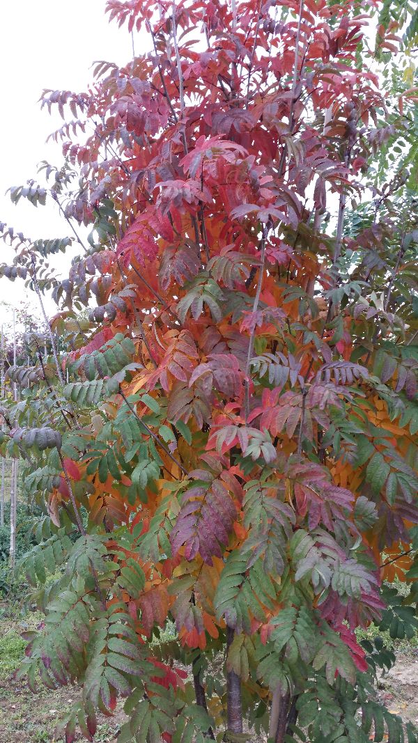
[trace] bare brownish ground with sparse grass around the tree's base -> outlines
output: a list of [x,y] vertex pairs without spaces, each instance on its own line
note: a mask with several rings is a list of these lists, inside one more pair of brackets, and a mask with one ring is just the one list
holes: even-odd
[[[25,682],[13,679],[13,671],[25,648],[20,633],[36,626],[40,618],[40,614],[25,615],[0,603],[0,743],[64,743],[55,730],[60,718],[77,699],[77,690],[66,687],[52,692],[42,688],[34,695]],[[396,665],[379,679],[379,695],[390,712],[418,724],[417,647],[402,646]],[[99,716],[94,741],[115,743],[123,718],[122,710],[114,718]],[[261,740],[257,739],[257,743]]]

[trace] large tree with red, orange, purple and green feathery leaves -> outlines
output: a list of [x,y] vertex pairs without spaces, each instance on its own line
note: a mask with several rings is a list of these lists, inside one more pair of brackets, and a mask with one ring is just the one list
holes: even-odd
[[373,51],[351,0],[109,0],[152,51],[42,96],[65,164],[10,195],[72,236],[4,226],[2,273],[62,311],[2,447],[45,504],[22,673],[83,687],[67,742],[119,697],[121,743],[417,741],[356,638],[418,626],[416,88],[386,5]]

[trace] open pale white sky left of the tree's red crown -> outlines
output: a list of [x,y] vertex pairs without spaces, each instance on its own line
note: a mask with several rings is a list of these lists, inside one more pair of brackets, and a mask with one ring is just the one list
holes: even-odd
[[[43,88],[83,91],[91,82],[91,64],[106,59],[123,65],[132,58],[132,39],[125,27],[109,24],[106,0],[21,0],[1,2],[0,26],[0,221],[32,239],[70,235],[68,225],[51,204],[32,206],[21,199],[15,206],[4,192],[10,186],[36,179],[37,163],[48,160],[60,165],[60,146],[45,144],[48,134],[62,126],[60,116],[50,117],[39,100]],[[135,39],[138,46],[138,40]],[[42,183],[42,178],[41,178]],[[12,255],[0,241],[0,263]],[[68,261],[52,256],[54,265]],[[51,261],[51,262],[52,262]],[[17,305],[25,299],[21,279],[0,279],[0,300]],[[28,291],[36,305],[36,296]],[[45,302],[49,314],[57,311]],[[0,322],[5,320],[0,305]]]

